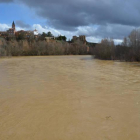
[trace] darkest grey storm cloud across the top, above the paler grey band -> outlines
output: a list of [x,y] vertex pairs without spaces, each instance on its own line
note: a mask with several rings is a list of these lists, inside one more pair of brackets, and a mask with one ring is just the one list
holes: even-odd
[[56,28],[115,23],[140,25],[139,0],[21,0]]

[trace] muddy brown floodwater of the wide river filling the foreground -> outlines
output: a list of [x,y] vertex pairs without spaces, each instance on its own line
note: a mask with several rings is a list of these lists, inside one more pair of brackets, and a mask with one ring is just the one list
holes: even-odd
[[140,64],[0,59],[0,140],[140,140]]

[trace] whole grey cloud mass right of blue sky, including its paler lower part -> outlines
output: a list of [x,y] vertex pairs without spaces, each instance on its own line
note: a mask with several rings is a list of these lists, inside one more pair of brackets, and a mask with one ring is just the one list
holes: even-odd
[[[4,0],[2,0],[4,1]],[[0,2],[2,2],[0,0]],[[139,0],[15,0],[35,10],[56,29],[78,30],[78,27],[98,25],[88,29],[88,36],[122,38],[140,26]]]

